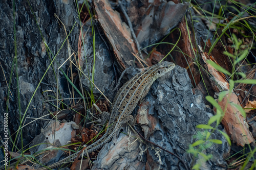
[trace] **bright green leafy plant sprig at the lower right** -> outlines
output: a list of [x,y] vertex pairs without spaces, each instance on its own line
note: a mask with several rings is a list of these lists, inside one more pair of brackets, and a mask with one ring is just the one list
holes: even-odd
[[[233,65],[239,64],[242,60],[246,58],[248,55],[248,50],[240,50],[240,46],[242,45],[242,42],[238,40],[236,35],[232,34],[232,40],[234,42],[233,48],[234,48],[234,54],[230,54],[229,52],[224,52],[226,56],[228,56],[230,59],[232,59]],[[230,77],[229,80],[229,90],[222,91],[219,93],[218,101],[222,101],[224,96],[231,94],[233,92],[233,87],[235,83],[245,83],[245,84],[256,84],[256,80],[245,80],[245,74],[243,72],[237,72],[234,68],[232,69],[232,73],[228,70],[222,68],[218,64],[214,63],[213,61],[208,60],[207,61],[210,65],[212,65],[215,69],[217,69],[220,72],[223,72],[224,74],[228,75]],[[233,80],[234,74],[240,75],[242,79],[240,80]],[[196,142],[189,145],[188,153],[191,153],[194,155],[194,158],[197,160],[196,164],[193,166],[193,169],[200,169],[201,165],[209,160],[211,158],[211,155],[206,155],[205,150],[207,148],[210,148],[212,144],[222,144],[221,140],[218,139],[211,139],[210,136],[215,131],[219,131],[227,140],[227,142],[231,145],[231,140],[229,139],[229,136],[224,133],[221,130],[218,130],[217,127],[220,125],[222,118],[225,115],[226,108],[223,110],[221,106],[212,98],[211,96],[206,96],[206,100],[211,103],[212,106],[216,108],[216,115],[210,117],[208,120],[208,124],[206,125],[198,125],[197,128],[203,129],[204,131],[198,132],[198,134],[195,136],[197,139]],[[227,103],[228,104],[228,101]],[[231,103],[230,103],[231,104]],[[240,105],[232,104],[233,107],[236,107],[241,114],[246,117],[245,111]],[[247,163],[251,156],[255,153],[255,151],[252,151],[251,154],[247,157]],[[246,163],[246,162],[245,162]],[[254,162],[255,164],[255,162]],[[244,165],[245,166],[245,165]],[[244,167],[243,166],[243,167]]]

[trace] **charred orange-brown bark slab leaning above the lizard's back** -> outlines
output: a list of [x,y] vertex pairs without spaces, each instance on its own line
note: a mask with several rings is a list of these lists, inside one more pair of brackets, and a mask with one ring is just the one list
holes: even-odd
[[132,53],[137,54],[138,51],[126,23],[122,22],[119,13],[112,9],[109,1],[96,0],[94,6],[96,18],[113,47],[121,71],[134,65]]

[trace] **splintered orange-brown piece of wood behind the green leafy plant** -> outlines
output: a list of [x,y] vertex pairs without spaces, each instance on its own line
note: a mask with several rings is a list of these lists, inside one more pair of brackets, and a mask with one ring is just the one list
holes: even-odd
[[[211,60],[218,64],[217,60],[215,60],[215,57],[218,56],[210,56],[206,52],[202,52],[201,46],[199,46],[199,49],[201,51],[205,70],[209,72],[209,74],[205,75],[208,76],[208,80],[212,84],[212,89],[214,89],[217,95],[220,91],[229,90],[229,82],[227,81],[225,75],[207,63],[207,60]],[[225,115],[221,123],[223,124],[226,133],[233,142],[237,143],[237,145],[244,146],[245,144],[254,142],[252,134],[248,129],[248,124],[245,117],[242,116],[241,112],[236,107],[230,105],[231,102],[241,106],[237,95],[234,93],[227,94],[224,96],[222,101],[219,101],[219,105],[221,106],[222,110],[225,111]]]

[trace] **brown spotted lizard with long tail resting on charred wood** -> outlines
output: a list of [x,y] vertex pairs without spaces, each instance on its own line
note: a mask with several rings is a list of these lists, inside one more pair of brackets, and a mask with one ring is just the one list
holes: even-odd
[[[111,116],[109,120],[110,127],[106,133],[95,143],[87,147],[87,152],[91,153],[103,147],[116,134],[118,129],[126,122],[133,120],[131,115],[138,102],[143,99],[151,88],[153,82],[159,77],[165,75],[174,69],[175,64],[171,62],[161,62],[151,67],[145,68],[144,71],[127,81],[117,92],[113,105],[111,106]],[[84,145],[86,147],[86,145]],[[63,163],[74,161],[79,152],[76,152],[65,159],[58,161],[48,168],[57,168]],[[82,154],[80,154],[80,157]],[[40,168],[47,169],[45,167]]]

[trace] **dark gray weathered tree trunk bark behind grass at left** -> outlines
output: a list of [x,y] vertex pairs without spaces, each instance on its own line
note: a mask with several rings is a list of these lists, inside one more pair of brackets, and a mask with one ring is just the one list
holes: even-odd
[[[69,57],[67,41],[64,42],[66,39],[65,30],[61,23],[55,18],[54,14],[56,14],[66,26],[67,33],[70,34],[70,46],[75,52],[77,51],[79,32],[78,23],[76,23],[76,4],[73,0],[29,0],[29,3],[28,1],[18,0],[14,2],[15,25],[13,20],[12,1],[2,1],[0,3],[0,62],[2,64],[2,69],[0,71],[0,99],[2,101],[0,106],[0,120],[1,122],[4,120],[3,114],[7,112],[8,106],[9,133],[15,134],[15,131],[20,125],[20,111],[20,116],[25,117],[22,125],[26,125],[23,128],[23,145],[27,145],[32,141],[35,135],[40,133],[40,129],[43,126],[41,120],[36,120],[31,124],[29,123],[34,120],[33,118],[49,114],[48,109],[54,111],[54,108],[49,103],[44,103],[44,99],[52,99],[49,98],[49,95],[56,97],[57,68]],[[16,33],[14,32],[14,26]],[[17,44],[16,48],[14,46],[15,36]],[[44,41],[49,49],[45,46]],[[17,75],[15,74],[15,71],[11,74],[15,50],[17,50],[17,65],[14,64],[14,70],[17,68]],[[56,58],[53,61],[52,66],[50,66],[51,61],[49,58],[53,60],[55,55]],[[46,72],[49,66],[50,68]],[[61,67],[66,74],[69,69],[68,66],[69,63],[65,63]],[[46,75],[42,79],[45,72]],[[58,83],[58,87],[61,98],[68,98],[70,95],[67,88],[67,80],[63,79],[64,76],[60,71],[58,74],[58,81],[60,82]],[[11,84],[10,87],[8,87],[7,84],[9,83],[10,78]],[[41,79],[42,82],[39,83]],[[46,90],[52,91],[42,93]],[[9,103],[7,102],[8,91],[11,93],[9,95]],[[18,92],[20,93],[19,100]],[[33,94],[35,95],[33,96]],[[30,100],[31,103],[29,104]],[[20,110],[18,109],[18,103],[20,103]],[[56,104],[56,101],[54,104]],[[24,115],[26,108],[28,108],[28,110],[26,115]],[[3,130],[3,124],[0,124],[1,136],[4,134]],[[2,138],[5,137],[2,136]],[[14,138],[15,136],[12,136],[12,139]],[[18,148],[22,147],[20,140],[21,139],[19,138],[19,142],[17,142]],[[11,140],[9,140],[9,149],[11,146]],[[3,151],[1,150],[1,152]]]

